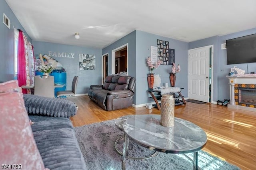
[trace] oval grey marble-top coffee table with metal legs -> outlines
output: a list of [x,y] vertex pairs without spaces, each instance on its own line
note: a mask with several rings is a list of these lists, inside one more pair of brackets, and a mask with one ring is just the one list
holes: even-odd
[[124,150],[122,169],[128,157],[129,139],[155,150],[171,154],[194,153],[193,166],[198,169],[198,151],[207,142],[202,128],[184,119],[175,118],[174,127],[160,125],[160,115],[129,115],[123,121]]

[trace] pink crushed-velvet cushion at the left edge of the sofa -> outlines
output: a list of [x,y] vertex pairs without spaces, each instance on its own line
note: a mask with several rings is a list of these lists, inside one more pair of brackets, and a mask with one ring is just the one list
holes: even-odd
[[21,89],[18,81],[0,83],[0,162],[17,164],[18,169],[43,170],[44,163],[34,140],[23,95],[12,89]]

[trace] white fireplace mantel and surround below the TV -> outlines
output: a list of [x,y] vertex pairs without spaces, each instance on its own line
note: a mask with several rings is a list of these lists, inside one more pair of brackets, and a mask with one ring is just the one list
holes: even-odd
[[226,77],[229,79],[229,87],[230,87],[230,90],[229,90],[230,104],[228,105],[228,108],[256,111],[256,108],[236,105],[235,96],[234,96],[235,84],[256,84],[256,74],[227,75]]

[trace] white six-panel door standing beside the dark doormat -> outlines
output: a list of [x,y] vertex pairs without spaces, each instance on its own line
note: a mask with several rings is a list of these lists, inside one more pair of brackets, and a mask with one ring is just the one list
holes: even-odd
[[210,47],[190,49],[188,55],[188,97],[208,103]]

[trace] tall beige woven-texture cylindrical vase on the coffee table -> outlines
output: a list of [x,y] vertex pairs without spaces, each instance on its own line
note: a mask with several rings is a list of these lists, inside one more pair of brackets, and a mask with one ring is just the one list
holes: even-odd
[[174,127],[173,95],[162,95],[160,124],[164,127]]

